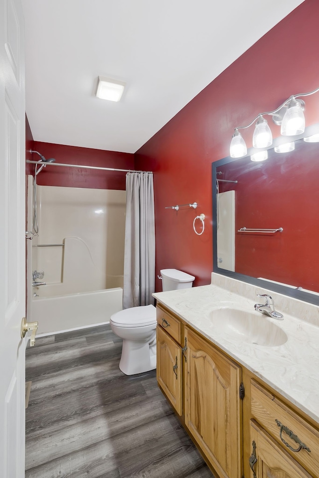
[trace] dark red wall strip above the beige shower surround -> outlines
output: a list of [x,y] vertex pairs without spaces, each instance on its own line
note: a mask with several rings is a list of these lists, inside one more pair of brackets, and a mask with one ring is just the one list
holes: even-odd
[[[134,155],[114,151],[55,145],[34,141],[32,149],[46,159],[55,158],[65,164],[84,164],[91,166],[134,169]],[[30,155],[37,161],[37,154]],[[27,159],[28,155],[27,155]],[[32,165],[32,172],[34,174]],[[47,166],[37,175],[37,184],[45,186],[91,187],[96,189],[125,190],[125,172],[102,171],[99,169],[80,169],[75,167]]]

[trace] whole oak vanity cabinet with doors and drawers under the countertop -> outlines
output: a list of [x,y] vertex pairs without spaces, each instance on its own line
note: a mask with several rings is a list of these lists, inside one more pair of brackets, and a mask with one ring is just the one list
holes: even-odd
[[319,478],[316,422],[161,306],[157,320],[160,388],[216,478]]

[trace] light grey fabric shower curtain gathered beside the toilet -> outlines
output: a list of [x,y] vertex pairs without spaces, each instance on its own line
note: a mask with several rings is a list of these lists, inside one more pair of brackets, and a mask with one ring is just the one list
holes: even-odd
[[126,194],[123,309],[154,304],[153,174],[128,172]]

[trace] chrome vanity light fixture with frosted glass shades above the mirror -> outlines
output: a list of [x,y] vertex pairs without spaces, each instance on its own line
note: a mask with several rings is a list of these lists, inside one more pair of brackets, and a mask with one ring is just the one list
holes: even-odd
[[[310,96],[317,93],[319,88],[310,91],[309,93],[299,93],[288,98],[276,110],[259,113],[256,118],[247,126],[237,126],[234,128],[235,133],[232,136],[230,143],[230,157],[242,158],[247,154],[247,146],[239,129],[249,128],[256,120],[255,131],[253,135],[254,148],[268,148],[272,145],[273,138],[271,130],[268,126],[264,115],[272,116],[273,122],[276,125],[281,125],[281,134],[283,136],[301,135],[305,131],[305,102],[299,99],[300,96]],[[307,140],[305,140],[307,141]],[[319,140],[318,140],[319,141]],[[310,140],[309,140],[310,142]],[[292,151],[292,150],[290,150]]]

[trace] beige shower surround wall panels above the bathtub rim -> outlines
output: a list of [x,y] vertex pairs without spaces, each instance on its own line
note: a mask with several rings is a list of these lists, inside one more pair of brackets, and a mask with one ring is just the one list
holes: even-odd
[[[44,271],[47,286],[36,294],[123,287],[125,191],[37,188],[39,236],[32,240],[33,270]],[[45,247],[37,247],[41,244]]]

